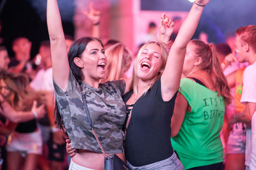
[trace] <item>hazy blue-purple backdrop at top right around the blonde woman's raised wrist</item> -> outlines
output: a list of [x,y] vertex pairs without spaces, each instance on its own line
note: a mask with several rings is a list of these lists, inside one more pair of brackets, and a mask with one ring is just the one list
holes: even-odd
[[[141,10],[189,11],[190,8],[188,0],[141,0]],[[255,0],[211,0],[205,6],[195,35],[205,31],[217,43],[218,36],[226,38],[241,26],[256,25],[255,9]]]

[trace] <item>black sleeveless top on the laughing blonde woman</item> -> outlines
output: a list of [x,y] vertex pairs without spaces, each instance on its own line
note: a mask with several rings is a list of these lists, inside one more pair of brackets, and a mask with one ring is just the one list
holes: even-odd
[[[125,103],[132,93],[124,96]],[[170,124],[176,96],[177,92],[170,101],[163,101],[159,78],[134,103],[125,140],[126,159],[132,166],[145,166],[172,156]]]

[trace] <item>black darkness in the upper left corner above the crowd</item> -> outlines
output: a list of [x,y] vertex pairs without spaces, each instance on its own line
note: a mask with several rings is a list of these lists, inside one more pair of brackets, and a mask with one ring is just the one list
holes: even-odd
[[[42,3],[44,4],[41,6],[38,6],[37,4],[36,6],[36,1],[42,1]],[[34,2],[34,4],[31,4],[31,2]],[[72,6],[68,4],[67,6],[69,6],[69,8],[72,8]],[[72,15],[74,15],[74,8],[72,11],[73,13],[70,13],[70,16],[68,16],[68,18],[71,19],[68,21],[63,21],[63,29],[65,33],[71,36],[74,35],[74,26],[72,24]],[[12,41],[13,39],[20,36],[29,38],[29,40],[32,42],[31,57],[34,57],[36,55],[40,42],[49,39],[45,15],[46,0],[6,1],[0,14],[0,18],[3,22],[1,37],[4,38],[4,45],[8,48],[10,56],[13,55],[11,47]]]

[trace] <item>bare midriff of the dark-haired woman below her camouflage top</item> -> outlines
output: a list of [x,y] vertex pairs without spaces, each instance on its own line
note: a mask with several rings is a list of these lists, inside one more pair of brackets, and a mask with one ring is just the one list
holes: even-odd
[[[115,153],[120,159],[126,162],[123,153]],[[108,154],[111,155],[111,154]],[[95,170],[104,169],[104,156],[102,153],[92,152],[90,150],[77,150],[77,153],[72,157],[72,161],[79,166],[87,167]]]

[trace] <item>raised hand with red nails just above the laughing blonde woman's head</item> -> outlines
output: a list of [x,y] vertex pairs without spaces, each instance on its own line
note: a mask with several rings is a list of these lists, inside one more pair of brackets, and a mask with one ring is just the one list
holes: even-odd
[[159,41],[162,41],[163,43],[168,43],[170,36],[173,32],[173,25],[174,22],[172,22],[172,20],[163,13],[159,23]]

